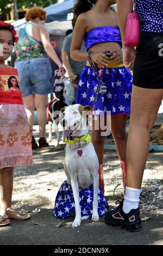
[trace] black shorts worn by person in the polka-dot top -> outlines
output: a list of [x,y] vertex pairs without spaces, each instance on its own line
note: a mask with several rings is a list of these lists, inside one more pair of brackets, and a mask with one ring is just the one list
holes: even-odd
[[163,33],[140,33],[136,51],[133,84],[149,89],[163,88]]

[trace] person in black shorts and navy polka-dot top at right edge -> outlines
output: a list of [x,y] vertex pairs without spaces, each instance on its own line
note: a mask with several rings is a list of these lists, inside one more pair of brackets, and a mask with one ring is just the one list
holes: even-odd
[[[131,0],[118,0],[122,43]],[[163,0],[136,0],[140,41],[136,48],[123,46],[124,66],[133,69],[131,116],[127,144],[127,182],[124,201],[105,222],[130,231],[142,229],[139,201],[143,171],[149,150],[149,134],[163,97]]]

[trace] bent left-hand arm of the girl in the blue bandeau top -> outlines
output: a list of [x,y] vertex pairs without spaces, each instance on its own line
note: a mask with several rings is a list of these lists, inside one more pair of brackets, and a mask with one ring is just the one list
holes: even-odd
[[74,26],[73,38],[71,42],[70,57],[76,61],[87,61],[87,52],[81,51],[84,34],[86,31],[86,19],[84,14],[80,14]]

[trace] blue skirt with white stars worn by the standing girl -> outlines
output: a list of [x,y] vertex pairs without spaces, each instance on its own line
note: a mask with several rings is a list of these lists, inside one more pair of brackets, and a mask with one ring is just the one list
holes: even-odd
[[[101,68],[98,68],[100,71]],[[107,87],[105,94],[100,93],[96,104],[96,115],[101,111],[110,111],[112,116],[130,114],[131,90],[133,76],[129,69],[105,68],[103,82]],[[85,66],[80,75],[76,103],[92,107],[95,99],[94,88],[98,84],[93,69]]]

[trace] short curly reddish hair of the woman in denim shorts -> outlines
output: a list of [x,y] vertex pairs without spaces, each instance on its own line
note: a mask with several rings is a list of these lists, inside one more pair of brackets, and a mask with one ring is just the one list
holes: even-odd
[[46,11],[41,7],[32,7],[27,11],[26,21],[35,20],[39,18],[40,20],[46,20]]

